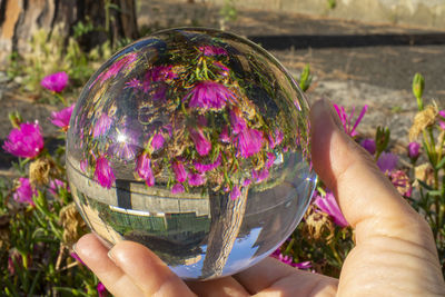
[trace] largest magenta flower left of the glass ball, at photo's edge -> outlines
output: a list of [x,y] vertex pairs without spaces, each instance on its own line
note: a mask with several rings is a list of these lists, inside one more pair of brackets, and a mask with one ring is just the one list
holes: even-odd
[[21,158],[34,158],[43,149],[43,137],[39,122],[23,122],[9,133],[3,143],[3,149]]

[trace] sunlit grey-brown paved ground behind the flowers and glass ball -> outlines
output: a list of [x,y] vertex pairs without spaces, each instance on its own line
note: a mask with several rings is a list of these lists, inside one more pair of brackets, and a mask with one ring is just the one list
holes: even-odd
[[[139,0],[139,26],[145,32],[178,26],[220,26],[219,8],[205,1],[189,2]],[[314,73],[309,101],[325,97],[347,107],[368,105],[359,128],[365,135],[377,126],[387,126],[393,143],[407,142],[416,111],[411,95],[415,72],[425,77],[425,98],[445,108],[445,31],[263,10],[238,11],[237,20],[226,27],[260,43],[296,76],[309,63]],[[0,73],[0,139],[10,130],[7,115],[14,109],[26,120],[39,119],[46,137],[53,139],[57,131],[47,119],[56,107],[31,106],[32,100],[17,96],[7,85]],[[0,151],[0,170],[7,170],[10,160]]]

